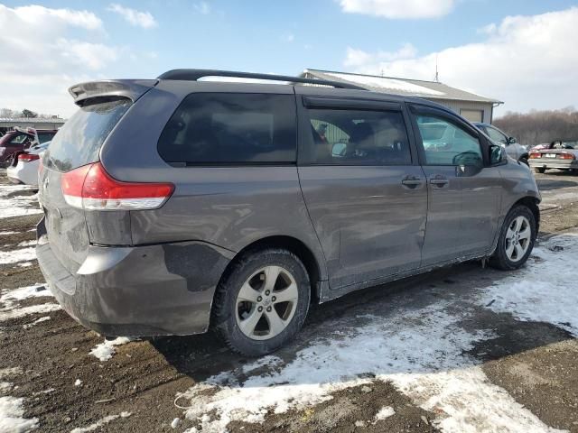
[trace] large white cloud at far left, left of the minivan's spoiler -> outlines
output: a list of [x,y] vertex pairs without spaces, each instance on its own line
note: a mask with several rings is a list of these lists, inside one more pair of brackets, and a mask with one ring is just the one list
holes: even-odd
[[75,106],[67,89],[102,78],[126,51],[107,45],[88,11],[0,5],[0,29],[0,107],[68,116]]

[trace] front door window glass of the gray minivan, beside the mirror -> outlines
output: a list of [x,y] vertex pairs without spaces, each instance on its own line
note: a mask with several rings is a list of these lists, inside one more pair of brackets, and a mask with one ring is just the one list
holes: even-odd
[[416,115],[415,119],[422,135],[427,165],[482,163],[478,138],[461,126],[434,115]]

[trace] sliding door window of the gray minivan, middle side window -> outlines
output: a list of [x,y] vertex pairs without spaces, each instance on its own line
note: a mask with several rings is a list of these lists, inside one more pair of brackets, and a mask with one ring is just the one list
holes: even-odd
[[399,112],[330,109],[311,109],[308,112],[313,163],[411,163],[406,124]]

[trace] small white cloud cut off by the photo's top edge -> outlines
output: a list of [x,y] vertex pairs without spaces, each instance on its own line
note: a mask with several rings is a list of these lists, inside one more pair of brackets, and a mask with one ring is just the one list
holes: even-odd
[[340,0],[341,10],[390,19],[437,18],[452,12],[454,0]]

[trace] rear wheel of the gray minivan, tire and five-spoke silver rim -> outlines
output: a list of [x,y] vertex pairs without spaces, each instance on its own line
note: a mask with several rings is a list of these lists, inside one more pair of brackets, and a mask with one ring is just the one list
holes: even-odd
[[[211,321],[231,350],[245,356],[270,354],[303,327],[311,283],[294,253],[280,248],[245,253],[221,280]],[[279,301],[275,293],[293,300]]]

